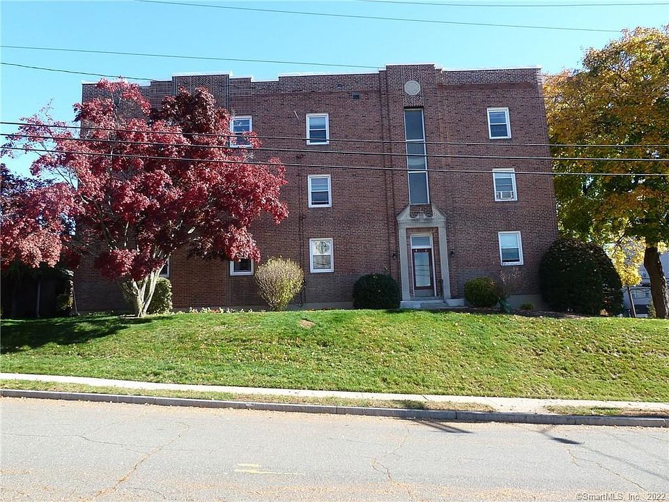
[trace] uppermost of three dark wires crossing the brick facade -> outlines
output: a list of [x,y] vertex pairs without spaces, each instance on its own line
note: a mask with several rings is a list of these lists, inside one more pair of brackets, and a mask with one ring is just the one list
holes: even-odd
[[[150,132],[156,133],[160,132],[162,135],[183,135],[183,132],[171,132],[171,131],[155,131],[150,129],[120,129],[120,128],[101,128],[94,126],[60,126],[59,124],[54,123],[44,123],[44,124],[35,124],[30,122],[10,122],[10,121],[0,121],[0,124],[6,126],[44,126],[44,127],[53,127],[53,128],[63,128],[63,129],[79,129],[79,130],[103,130],[111,132]],[[10,133],[6,134],[11,135]],[[203,137],[222,137],[222,138],[231,138],[238,137],[238,135],[231,132],[230,134],[216,134],[212,132],[203,132],[198,133],[197,136]],[[295,141],[307,141],[309,138],[304,136],[254,136],[258,139],[282,139],[282,140],[295,140]],[[330,142],[339,142],[339,143],[369,143],[369,144],[405,144],[406,141],[403,139],[337,139],[330,137],[328,139]],[[550,144],[550,143],[486,143],[486,142],[424,142],[427,145],[446,145],[446,146],[528,146],[528,147],[558,147],[558,148],[669,148],[669,144]],[[311,150],[309,150],[311,151]],[[321,153],[328,153],[329,150],[314,150]]]

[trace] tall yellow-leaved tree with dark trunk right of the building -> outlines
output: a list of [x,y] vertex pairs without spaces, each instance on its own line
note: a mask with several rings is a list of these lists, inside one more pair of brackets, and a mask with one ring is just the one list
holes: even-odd
[[[659,250],[669,243],[669,162],[657,159],[669,158],[669,25],[623,31],[606,47],[587,50],[582,66],[544,83],[551,143],[570,145],[553,146],[553,157],[603,159],[555,160],[557,173],[585,173],[555,176],[560,229],[601,245],[643,241],[656,315],[666,319]],[[621,278],[624,284],[634,277]]]

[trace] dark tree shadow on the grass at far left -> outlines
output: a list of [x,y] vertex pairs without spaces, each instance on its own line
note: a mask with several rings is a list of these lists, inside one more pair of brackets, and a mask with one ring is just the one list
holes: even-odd
[[160,321],[120,316],[82,316],[30,321],[3,321],[1,353],[36,349],[49,343],[58,345],[80,344],[94,338],[114,335],[129,326]]

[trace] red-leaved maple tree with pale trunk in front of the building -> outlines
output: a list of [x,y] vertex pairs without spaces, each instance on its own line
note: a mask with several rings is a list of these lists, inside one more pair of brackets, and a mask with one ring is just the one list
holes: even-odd
[[[146,314],[169,255],[260,259],[249,225],[261,213],[288,215],[277,158],[249,161],[259,146],[231,147],[230,115],[206,89],[180,89],[151,110],[139,86],[98,82],[101,97],[75,105],[80,132],[41,114],[10,137],[40,155],[31,166],[59,183],[27,190],[3,208],[2,265],[70,263],[89,254],[121,287],[138,317]],[[67,231],[76,222],[75,232]]]

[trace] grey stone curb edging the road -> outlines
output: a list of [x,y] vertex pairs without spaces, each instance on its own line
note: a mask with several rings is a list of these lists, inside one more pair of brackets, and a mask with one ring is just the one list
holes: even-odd
[[36,399],[66,401],[155,404],[156,406],[192,406],[197,408],[231,408],[258,411],[288,411],[293,413],[329,413],[333,415],[413,418],[415,420],[449,420],[452,422],[502,422],[545,425],[613,425],[618,427],[669,427],[669,418],[656,417],[552,415],[548,413],[500,413],[494,411],[373,408],[367,406],[329,406],[322,404],[199,400],[183,397],[154,397],[123,394],[67,393],[56,392],[52,390],[0,389],[0,397],[29,397]]

